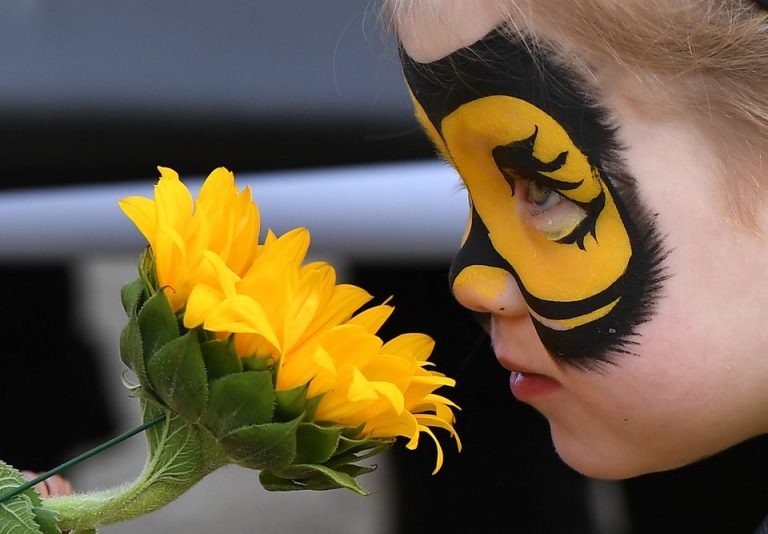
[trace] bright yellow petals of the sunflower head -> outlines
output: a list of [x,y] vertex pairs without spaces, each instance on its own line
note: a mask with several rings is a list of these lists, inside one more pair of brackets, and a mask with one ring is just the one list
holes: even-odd
[[304,228],[259,243],[260,218],[248,188],[238,191],[224,168],[213,171],[196,201],[171,169],[160,168],[155,198],[120,203],[146,237],[158,288],[189,330],[230,342],[237,355],[274,371],[274,389],[305,388],[313,422],[355,429],[357,438],[408,439],[454,428],[457,406],[435,393],[455,381],[431,369],[434,342],[410,333],[384,342],[377,332],[388,303],[359,311],[365,290],[337,283],[325,262],[306,262]]

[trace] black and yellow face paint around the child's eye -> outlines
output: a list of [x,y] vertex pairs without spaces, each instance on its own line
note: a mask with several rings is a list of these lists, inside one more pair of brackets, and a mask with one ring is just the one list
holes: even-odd
[[550,353],[590,368],[631,353],[665,253],[604,114],[533,50],[493,32],[432,63],[401,55],[416,116],[471,198],[454,291],[511,275]]

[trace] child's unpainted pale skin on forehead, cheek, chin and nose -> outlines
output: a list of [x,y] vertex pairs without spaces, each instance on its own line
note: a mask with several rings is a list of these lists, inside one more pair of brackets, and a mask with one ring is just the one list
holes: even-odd
[[[435,12],[417,8],[399,22],[398,33],[404,52],[426,63],[473,44],[504,20],[495,2],[469,7],[444,0]],[[633,354],[599,369],[562,365],[539,339],[512,276],[492,284],[470,278],[455,296],[491,314],[491,341],[503,367],[556,381],[525,400],[548,419],[563,460],[589,476],[627,478],[768,433],[768,329],[761,311],[768,302],[768,242],[760,235],[764,210],[759,232],[729,222],[722,170],[695,126],[641,112],[647,102],[636,105],[637,95],[630,99],[620,90],[628,80],[600,80],[600,74],[600,105],[618,125],[626,169],[669,251],[669,278],[650,319],[636,329]],[[524,210],[510,216],[535,223]]]

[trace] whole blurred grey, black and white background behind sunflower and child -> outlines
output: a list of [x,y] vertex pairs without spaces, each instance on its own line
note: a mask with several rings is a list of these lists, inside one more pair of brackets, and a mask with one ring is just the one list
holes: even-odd
[[[466,199],[412,118],[394,40],[366,0],[6,0],[0,12],[0,458],[46,470],[126,430],[119,288],[141,239],[116,202],[157,165],[192,184],[226,166],[265,225],[303,225],[313,256],[397,307],[383,336],[423,331],[458,378],[460,455],[398,447],[362,482],[269,494],[227,468],[173,505],[107,533],[750,532],[764,513],[766,440],[674,473],[587,479],[546,422],[509,394],[448,292]],[[20,410],[19,407],[24,407]],[[67,476],[129,480],[134,438]]]

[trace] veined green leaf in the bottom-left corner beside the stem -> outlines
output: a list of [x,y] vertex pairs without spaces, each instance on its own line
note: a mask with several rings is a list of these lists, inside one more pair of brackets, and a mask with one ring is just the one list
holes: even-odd
[[[20,471],[0,461],[0,495],[26,480]],[[0,534],[59,534],[58,516],[43,505],[34,488],[0,504]]]

